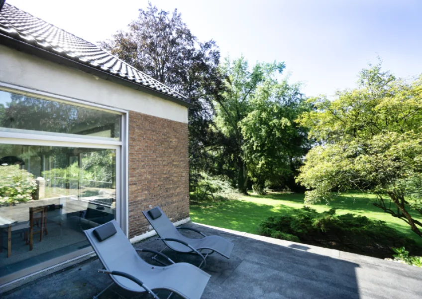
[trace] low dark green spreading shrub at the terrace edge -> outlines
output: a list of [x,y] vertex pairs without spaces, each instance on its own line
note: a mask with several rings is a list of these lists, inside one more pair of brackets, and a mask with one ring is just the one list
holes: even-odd
[[350,213],[337,215],[335,208],[318,213],[304,207],[269,217],[261,224],[260,234],[290,239],[295,236],[302,243],[373,256],[391,256],[390,248],[397,246],[421,252],[415,241],[401,236],[384,221]]

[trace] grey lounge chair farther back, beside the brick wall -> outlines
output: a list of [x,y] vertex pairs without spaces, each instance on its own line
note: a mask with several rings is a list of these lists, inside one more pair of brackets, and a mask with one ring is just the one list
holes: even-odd
[[[158,206],[142,213],[160,236],[160,238],[157,238],[156,240],[161,240],[166,244],[164,249],[168,247],[180,253],[190,253],[200,256],[202,258],[202,262],[199,265],[199,268],[205,267],[207,264],[207,257],[214,252],[219,253],[227,259],[230,258],[230,253],[233,250],[234,244],[227,241],[226,239],[219,236],[207,237],[199,230],[190,227],[176,228]],[[201,234],[204,238],[191,239],[185,237],[179,233],[178,229],[192,230]],[[161,252],[163,250],[161,250]],[[203,250],[207,250],[207,252],[203,253]],[[155,259],[156,256],[153,258]]]

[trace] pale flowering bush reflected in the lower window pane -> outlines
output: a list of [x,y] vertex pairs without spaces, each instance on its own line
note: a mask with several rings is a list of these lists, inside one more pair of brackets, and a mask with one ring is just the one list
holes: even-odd
[[36,188],[34,176],[19,165],[0,166],[0,204],[31,200]]

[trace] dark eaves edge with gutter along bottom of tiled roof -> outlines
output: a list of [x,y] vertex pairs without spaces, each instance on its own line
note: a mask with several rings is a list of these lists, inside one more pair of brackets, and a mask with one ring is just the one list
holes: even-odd
[[[2,4],[4,4],[4,0],[0,0],[0,7],[1,7]],[[111,82],[114,82],[114,83],[117,83],[117,84],[120,84],[120,85],[124,85],[126,87],[133,88],[133,89],[151,94],[153,96],[160,97],[160,98],[165,99],[165,100],[169,100],[171,102],[180,104],[180,105],[188,107],[188,108],[192,107],[192,104],[189,102],[189,100],[183,101],[183,100],[178,99],[176,97],[172,97],[170,95],[162,93],[158,90],[148,88],[147,86],[136,84],[136,83],[134,83],[130,80],[124,79],[120,76],[110,74],[110,73],[103,71],[101,69],[97,69],[95,67],[85,65],[85,64],[80,63],[78,61],[75,61],[75,60],[63,57],[61,55],[49,52],[49,51],[44,50],[42,48],[33,46],[33,45],[31,45],[27,42],[12,38],[10,36],[7,36],[7,35],[1,34],[1,33],[0,33],[0,44],[5,45],[5,46],[10,47],[10,48],[13,48],[13,49],[16,49],[18,51],[27,53],[27,54],[35,55],[35,56],[40,57],[42,59],[46,59],[46,60],[61,64],[61,65],[65,65],[65,66],[68,66],[68,67],[72,67],[72,68],[81,70],[81,71],[86,72],[88,74],[95,75],[99,78],[102,78],[102,79],[105,79],[105,80],[108,80],[108,81],[111,81]]]

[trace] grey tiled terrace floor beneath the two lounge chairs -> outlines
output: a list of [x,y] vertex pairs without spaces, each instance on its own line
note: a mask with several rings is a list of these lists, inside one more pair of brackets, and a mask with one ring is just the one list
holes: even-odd
[[[420,268],[250,234],[229,233],[194,223],[187,226],[200,228],[207,235],[220,235],[235,244],[230,260],[215,254],[207,259],[205,271],[211,274],[211,280],[202,299],[422,298]],[[187,235],[193,237],[195,233]],[[164,245],[151,238],[135,247],[160,250]],[[199,263],[198,257],[165,253],[175,262]],[[150,256],[142,256],[151,262]],[[90,299],[110,283],[108,276],[97,273],[101,268],[98,259],[90,260],[23,285],[1,298]],[[151,297],[123,292],[116,286],[101,296],[101,299],[144,298]]]

